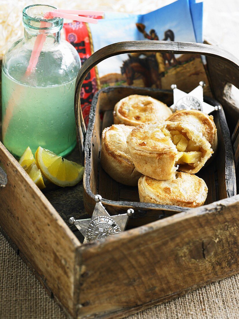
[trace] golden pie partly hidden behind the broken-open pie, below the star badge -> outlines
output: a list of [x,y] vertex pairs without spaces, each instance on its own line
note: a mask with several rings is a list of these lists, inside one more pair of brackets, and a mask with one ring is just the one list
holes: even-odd
[[213,152],[216,152],[217,129],[212,115],[207,115],[197,110],[181,110],[170,115],[167,121],[189,122],[198,132],[202,133],[211,144]]

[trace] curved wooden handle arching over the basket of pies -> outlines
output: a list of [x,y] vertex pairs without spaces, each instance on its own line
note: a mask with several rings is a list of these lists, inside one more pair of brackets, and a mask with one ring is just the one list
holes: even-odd
[[174,54],[199,54],[212,56],[227,62],[233,74],[236,75],[236,82],[239,83],[239,60],[228,51],[202,43],[191,42],[172,42],[172,41],[124,41],[110,44],[93,53],[81,67],[75,85],[75,120],[77,127],[78,142],[81,153],[81,161],[84,163],[84,140],[86,135],[86,127],[81,112],[80,93],[84,79],[88,72],[101,61],[123,53],[133,52],[162,52]]

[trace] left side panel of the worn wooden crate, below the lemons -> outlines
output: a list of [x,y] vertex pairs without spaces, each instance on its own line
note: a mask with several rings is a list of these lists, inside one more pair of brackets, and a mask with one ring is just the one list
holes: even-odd
[[81,244],[1,142],[0,161],[8,179],[0,189],[0,225],[73,314],[75,251]]

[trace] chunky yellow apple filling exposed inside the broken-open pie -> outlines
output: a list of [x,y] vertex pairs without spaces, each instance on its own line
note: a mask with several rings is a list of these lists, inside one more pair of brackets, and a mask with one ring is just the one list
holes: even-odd
[[196,167],[198,165],[197,163],[200,162],[202,157],[200,146],[196,145],[192,140],[190,140],[184,132],[180,132],[179,130],[170,130],[168,133],[173,144],[178,150],[176,164]]

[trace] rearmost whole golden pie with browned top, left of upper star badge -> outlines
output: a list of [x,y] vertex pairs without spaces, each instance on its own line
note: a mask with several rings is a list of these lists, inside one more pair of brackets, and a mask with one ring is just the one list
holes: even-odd
[[165,120],[172,115],[166,104],[145,95],[130,95],[116,103],[114,124],[137,126],[141,123]]

